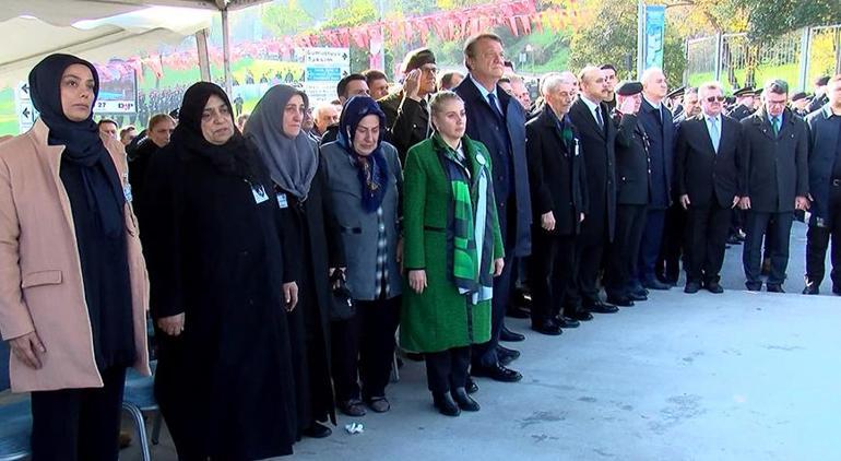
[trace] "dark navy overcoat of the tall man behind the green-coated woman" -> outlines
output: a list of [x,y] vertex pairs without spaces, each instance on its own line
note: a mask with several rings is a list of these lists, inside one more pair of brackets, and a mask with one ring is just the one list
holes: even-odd
[[[506,255],[510,255],[509,250],[513,246],[512,256],[529,256],[532,245],[532,204],[529,194],[529,167],[525,161],[525,111],[508,93],[497,86],[497,97],[506,116],[505,122],[500,122],[470,76],[454,87],[453,92],[464,101],[467,137],[485,144],[491,156],[494,193]],[[499,144],[500,130],[507,130],[509,145]],[[505,176],[506,172],[512,176],[512,181]],[[513,185],[512,190],[509,190],[510,184]],[[511,206],[514,210],[508,210]]]

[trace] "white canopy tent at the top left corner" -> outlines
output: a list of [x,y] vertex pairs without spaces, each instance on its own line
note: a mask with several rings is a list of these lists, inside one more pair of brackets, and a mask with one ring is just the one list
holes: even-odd
[[[0,84],[25,75],[52,52],[108,59],[127,49],[197,34],[202,76],[210,79],[206,33],[222,13],[225,82],[230,90],[230,10],[269,0],[3,0],[0,10]],[[179,10],[171,10],[177,8]],[[11,40],[11,43],[10,43]],[[10,46],[8,46],[10,45]]]

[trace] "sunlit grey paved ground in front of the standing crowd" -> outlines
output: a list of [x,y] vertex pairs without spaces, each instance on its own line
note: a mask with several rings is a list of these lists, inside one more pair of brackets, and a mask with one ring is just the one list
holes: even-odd
[[[390,413],[343,417],[365,433],[304,440],[293,459],[841,459],[841,298],[795,294],[803,235],[796,225],[787,294],[743,291],[735,247],[723,295],[654,293],[559,338],[509,319],[528,334],[516,345],[524,379],[479,380],[481,412],[436,413],[423,364],[407,362],[389,388]],[[121,459],[140,459],[137,446]],[[153,459],[176,459],[166,435]]]

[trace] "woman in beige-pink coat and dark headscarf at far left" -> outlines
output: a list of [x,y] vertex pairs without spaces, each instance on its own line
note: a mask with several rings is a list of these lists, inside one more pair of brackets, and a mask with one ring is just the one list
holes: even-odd
[[126,368],[149,374],[145,267],[98,83],[87,61],[45,58],[40,118],[0,144],[0,333],[12,390],[32,392],[35,461],[117,460]]

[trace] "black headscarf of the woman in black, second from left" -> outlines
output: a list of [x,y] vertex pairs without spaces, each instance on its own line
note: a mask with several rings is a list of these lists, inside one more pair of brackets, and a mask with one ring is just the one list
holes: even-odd
[[[204,106],[211,96],[218,96],[228,106],[234,135],[223,145],[208,142],[201,132],[201,118]],[[225,91],[215,83],[198,82],[187,88],[178,110],[178,126],[173,132],[168,149],[186,151],[209,161],[216,169],[227,175],[247,179],[257,185],[256,149],[246,141],[234,123],[234,111]]]

